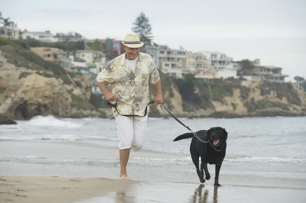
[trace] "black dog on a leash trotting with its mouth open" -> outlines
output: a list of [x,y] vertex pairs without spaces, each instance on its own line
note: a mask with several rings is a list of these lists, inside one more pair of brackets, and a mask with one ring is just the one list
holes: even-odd
[[[227,132],[224,128],[214,127],[209,130],[199,130],[196,134],[202,141],[195,137],[193,133],[182,134],[173,141],[192,138],[190,154],[200,182],[204,183],[205,179],[209,180],[211,178],[207,164],[215,164],[216,175],[214,185],[221,186],[219,184],[219,172],[225,157]],[[199,157],[201,157],[201,169],[199,169]],[[205,171],[205,179],[203,169]]]

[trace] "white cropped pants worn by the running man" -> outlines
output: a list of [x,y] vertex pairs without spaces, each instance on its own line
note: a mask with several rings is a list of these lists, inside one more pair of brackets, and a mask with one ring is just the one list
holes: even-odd
[[115,115],[116,127],[119,135],[119,150],[130,149],[139,151],[145,141],[148,115],[135,120],[134,117]]

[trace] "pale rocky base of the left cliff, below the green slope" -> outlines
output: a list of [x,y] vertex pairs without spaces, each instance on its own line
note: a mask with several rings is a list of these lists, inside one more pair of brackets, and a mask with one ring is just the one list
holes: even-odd
[[8,118],[31,119],[35,115],[48,114],[70,118],[106,117],[105,112],[89,102],[91,80],[87,75],[73,78],[81,81],[82,88],[36,72],[3,70],[1,75],[5,75],[0,79],[5,91],[0,94],[0,114]]

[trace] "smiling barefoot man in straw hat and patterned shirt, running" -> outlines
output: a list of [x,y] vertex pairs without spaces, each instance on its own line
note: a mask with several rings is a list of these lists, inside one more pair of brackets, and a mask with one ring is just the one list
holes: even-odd
[[[117,102],[117,110],[113,107],[119,134],[119,179],[131,180],[127,177],[126,166],[130,157],[130,149],[139,151],[145,140],[147,118],[149,112],[149,81],[154,84],[156,96],[154,103],[162,104],[161,80],[152,57],[140,52],[143,42],[138,34],[127,34],[121,42],[125,53],[111,60],[105,69],[96,77],[96,82],[109,102]],[[107,89],[111,84],[112,92]],[[135,114],[137,117],[123,115]]]

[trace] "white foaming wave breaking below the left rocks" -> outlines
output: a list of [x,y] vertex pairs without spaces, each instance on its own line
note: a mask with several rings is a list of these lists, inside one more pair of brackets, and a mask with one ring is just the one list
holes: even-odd
[[63,119],[57,119],[53,115],[46,115],[46,116],[38,115],[25,124],[30,126],[61,127],[61,128],[80,128],[83,126],[83,124],[73,123],[70,121],[65,121]]

